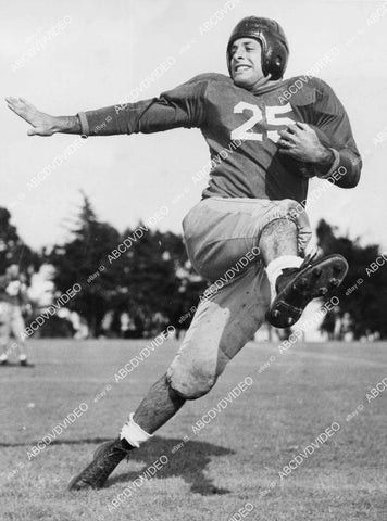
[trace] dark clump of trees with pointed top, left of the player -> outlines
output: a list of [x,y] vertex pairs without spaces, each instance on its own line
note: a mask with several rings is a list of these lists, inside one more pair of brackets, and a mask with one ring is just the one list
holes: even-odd
[[61,293],[82,285],[67,307],[87,320],[92,335],[101,332],[108,312],[109,332],[115,334],[124,312],[137,336],[158,334],[167,325],[182,328],[179,318],[197,304],[204,283],[187,265],[180,236],[152,231],[143,223],[120,234],[97,219],[86,195],[70,231],[70,240],[53,249],[49,262]]

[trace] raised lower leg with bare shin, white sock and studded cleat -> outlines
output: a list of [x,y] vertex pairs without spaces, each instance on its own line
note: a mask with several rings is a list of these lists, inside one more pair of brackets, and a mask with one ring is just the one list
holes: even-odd
[[330,255],[315,263],[311,256],[297,256],[297,227],[289,219],[269,224],[259,246],[271,284],[272,303],[266,314],[276,328],[294,326],[307,305],[341,284],[348,264],[341,255]]

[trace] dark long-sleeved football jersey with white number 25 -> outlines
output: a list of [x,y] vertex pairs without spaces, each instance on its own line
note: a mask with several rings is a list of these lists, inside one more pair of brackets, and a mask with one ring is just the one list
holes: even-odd
[[336,151],[335,168],[361,169],[344,106],[329,86],[313,77],[269,81],[253,93],[224,75],[203,74],[159,98],[89,111],[86,118],[90,136],[200,128],[213,160],[203,198],[304,201],[308,179],[276,144],[278,131],[295,122],[327,136]]

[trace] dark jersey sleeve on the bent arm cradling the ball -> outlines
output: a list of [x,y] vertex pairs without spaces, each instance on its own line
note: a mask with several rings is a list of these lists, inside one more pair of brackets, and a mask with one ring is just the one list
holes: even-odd
[[344,167],[346,170],[342,171],[349,174],[348,177],[359,178],[362,160],[352,136],[347,112],[333,89],[321,79],[316,81],[317,96],[314,105],[314,125],[329,138],[335,154],[329,171],[320,177],[330,180],[330,175],[338,168]]

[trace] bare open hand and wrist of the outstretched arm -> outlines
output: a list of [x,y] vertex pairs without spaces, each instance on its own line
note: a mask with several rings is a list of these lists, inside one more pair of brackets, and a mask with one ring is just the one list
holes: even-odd
[[78,116],[50,116],[39,111],[24,98],[5,98],[11,111],[26,120],[32,128],[28,136],[52,136],[57,132],[82,134]]

